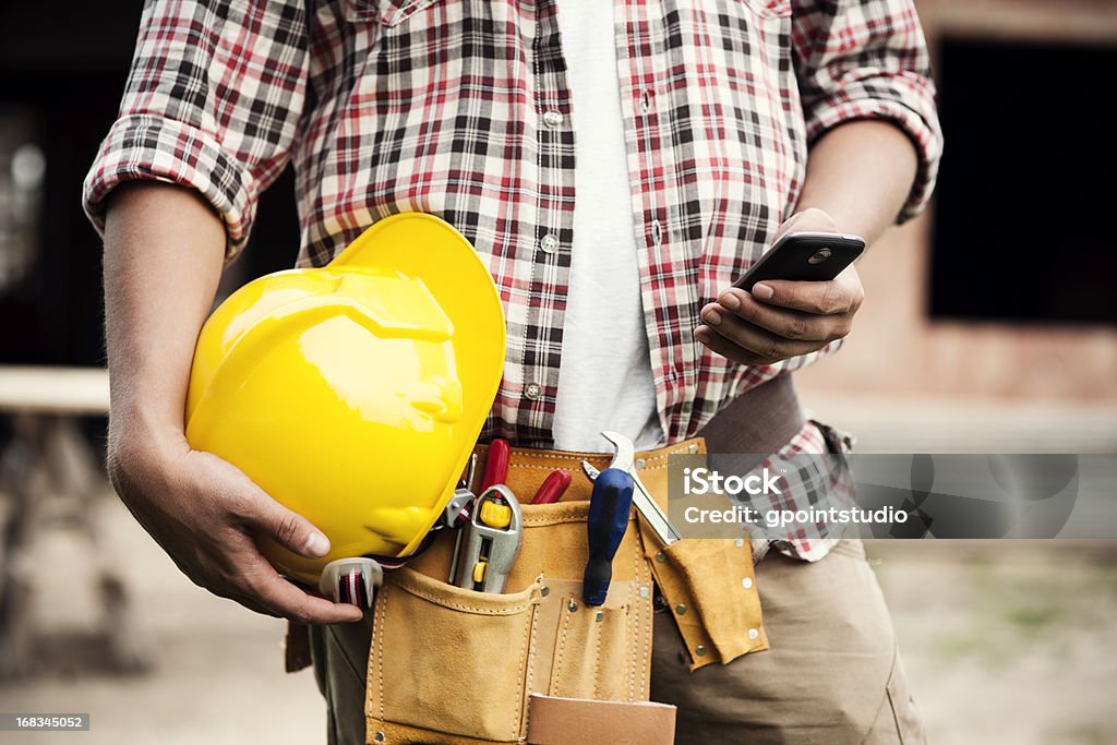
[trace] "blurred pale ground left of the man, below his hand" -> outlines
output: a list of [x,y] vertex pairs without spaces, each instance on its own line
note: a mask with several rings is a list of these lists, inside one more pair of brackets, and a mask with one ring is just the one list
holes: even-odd
[[[90,672],[84,662],[94,650],[78,649],[70,660],[40,650],[46,669],[27,681],[0,684],[0,710],[87,711],[90,729],[0,733],[0,743],[325,742],[313,675],[283,671],[284,623],[194,586],[120,503],[106,499],[103,509],[106,550],[125,557],[121,566],[135,604],[136,634],[154,669],[139,676]],[[36,598],[40,630],[49,639],[80,637],[97,617],[94,600],[79,586],[83,557],[66,535],[44,538],[36,563],[75,574]]]

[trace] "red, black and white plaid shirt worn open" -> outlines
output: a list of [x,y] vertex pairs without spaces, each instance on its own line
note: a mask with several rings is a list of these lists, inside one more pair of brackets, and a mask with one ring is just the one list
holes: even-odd
[[[836,348],[743,366],[693,337],[701,306],[793,211],[810,143],[884,118],[920,153],[900,218],[922,209],[939,133],[911,0],[615,0],[617,75],[645,319],[669,442],[751,386]],[[555,0],[157,0],[120,118],[85,184],[103,226],[118,183],[201,192],[230,257],[257,195],[295,165],[299,265],[385,216],[457,227],[488,262],[508,353],[483,437],[551,445],[574,230],[577,111]],[[608,333],[603,329],[602,333]],[[789,448],[817,448],[813,428]]]

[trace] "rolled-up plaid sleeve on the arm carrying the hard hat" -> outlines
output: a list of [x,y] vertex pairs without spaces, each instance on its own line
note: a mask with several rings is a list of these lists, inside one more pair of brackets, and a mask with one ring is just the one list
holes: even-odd
[[147,3],[120,115],[85,180],[86,214],[103,231],[105,198],[126,181],[190,187],[225,220],[235,256],[289,157],[306,76],[302,2]]

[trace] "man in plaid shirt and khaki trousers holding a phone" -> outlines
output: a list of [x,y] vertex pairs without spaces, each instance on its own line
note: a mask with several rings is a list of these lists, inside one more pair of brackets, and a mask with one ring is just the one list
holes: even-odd
[[[489,264],[508,362],[483,440],[600,451],[607,428],[693,437],[836,350],[856,269],[728,288],[789,230],[871,245],[922,209],[939,147],[911,0],[149,3],[85,193],[105,232],[113,481],[195,583],[296,621],[361,619],[249,536],[308,556],[326,538],[183,437],[222,262],[288,161],[300,265],[405,210]],[[795,428],[781,451],[825,451]],[[922,738],[859,544],[832,546],[753,545],[771,651],[690,674],[693,644],[657,614],[652,697],[679,704],[679,742]],[[347,670],[369,633],[316,634],[337,742],[364,738]]]

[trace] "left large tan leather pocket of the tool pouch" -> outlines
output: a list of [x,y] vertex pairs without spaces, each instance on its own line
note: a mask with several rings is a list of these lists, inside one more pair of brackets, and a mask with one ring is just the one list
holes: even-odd
[[522,738],[540,588],[480,593],[391,572],[373,609],[369,742]]

